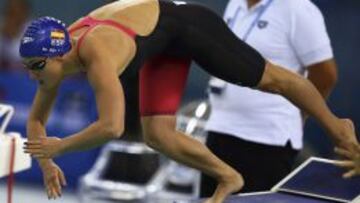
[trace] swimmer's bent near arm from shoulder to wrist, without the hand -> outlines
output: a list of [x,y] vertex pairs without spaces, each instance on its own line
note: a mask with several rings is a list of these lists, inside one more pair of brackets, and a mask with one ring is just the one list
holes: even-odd
[[[117,44],[123,57],[115,57],[108,46],[87,37],[82,47],[87,78],[94,90],[98,119],[84,130],[62,140],[62,153],[82,151],[120,137],[124,130],[124,93],[117,66],[125,66],[126,44]],[[115,58],[115,59],[114,59]],[[120,62],[119,62],[120,61]]]

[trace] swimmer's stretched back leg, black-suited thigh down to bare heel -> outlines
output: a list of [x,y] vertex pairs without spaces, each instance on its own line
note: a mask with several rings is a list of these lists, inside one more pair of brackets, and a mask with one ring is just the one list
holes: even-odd
[[[315,86],[302,76],[272,64],[238,39],[214,12],[202,6],[183,8],[180,39],[202,68],[227,82],[284,96],[314,117],[335,145],[355,151],[356,133],[336,117]],[[180,10],[180,9],[179,9]]]

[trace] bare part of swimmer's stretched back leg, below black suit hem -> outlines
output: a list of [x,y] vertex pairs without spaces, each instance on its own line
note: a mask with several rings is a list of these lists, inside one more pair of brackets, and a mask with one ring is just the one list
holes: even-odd
[[352,122],[336,117],[308,80],[277,65],[267,63],[258,88],[283,95],[313,116],[328,132],[335,145],[348,150],[354,150],[357,147],[358,141]]

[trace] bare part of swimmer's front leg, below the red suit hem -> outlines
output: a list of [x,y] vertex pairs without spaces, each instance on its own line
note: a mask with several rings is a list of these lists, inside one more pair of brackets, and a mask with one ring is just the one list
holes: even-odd
[[196,168],[218,181],[210,202],[221,203],[243,187],[243,178],[233,168],[217,158],[204,144],[176,130],[174,115],[142,117],[144,139],[152,148],[170,158]]

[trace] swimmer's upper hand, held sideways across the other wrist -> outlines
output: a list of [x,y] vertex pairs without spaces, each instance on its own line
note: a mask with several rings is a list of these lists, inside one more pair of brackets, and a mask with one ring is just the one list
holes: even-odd
[[25,142],[25,153],[34,158],[54,158],[62,154],[62,140],[57,137],[46,137]]

